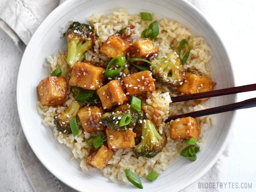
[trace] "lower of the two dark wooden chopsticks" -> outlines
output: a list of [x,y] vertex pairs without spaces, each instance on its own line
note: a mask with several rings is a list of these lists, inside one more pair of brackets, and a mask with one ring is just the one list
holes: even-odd
[[251,108],[251,107],[256,107],[256,98],[252,98],[252,99],[248,99],[248,100],[244,100],[241,102],[236,102],[228,105],[223,105],[219,107],[171,116],[165,122],[169,122],[170,120],[175,120],[177,118],[183,118],[183,117],[189,117],[189,116],[200,117],[200,116],[212,115],[212,114],[234,111],[238,109]]

